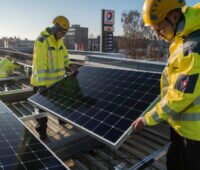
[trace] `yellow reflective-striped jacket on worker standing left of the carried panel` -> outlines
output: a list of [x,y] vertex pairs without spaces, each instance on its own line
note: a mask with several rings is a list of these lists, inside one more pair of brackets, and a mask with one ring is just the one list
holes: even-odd
[[34,44],[31,84],[50,86],[62,79],[68,67],[68,51],[62,39],[56,40],[51,28],[41,32]]

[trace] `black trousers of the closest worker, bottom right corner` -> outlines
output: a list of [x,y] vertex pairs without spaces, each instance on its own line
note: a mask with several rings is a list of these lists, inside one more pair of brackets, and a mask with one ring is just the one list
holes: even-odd
[[170,133],[172,143],[167,153],[167,169],[200,170],[200,141],[181,137],[172,128]]

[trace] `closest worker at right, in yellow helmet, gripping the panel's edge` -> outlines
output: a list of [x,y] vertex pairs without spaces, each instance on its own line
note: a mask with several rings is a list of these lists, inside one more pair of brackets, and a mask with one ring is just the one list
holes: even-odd
[[144,24],[170,42],[161,77],[161,99],[133,122],[135,130],[167,121],[167,169],[200,169],[200,8],[185,0],[145,0]]

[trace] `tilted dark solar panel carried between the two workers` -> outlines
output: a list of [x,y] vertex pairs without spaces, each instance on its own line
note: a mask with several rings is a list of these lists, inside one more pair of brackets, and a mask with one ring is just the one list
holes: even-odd
[[158,96],[159,79],[157,73],[85,66],[29,101],[117,148]]

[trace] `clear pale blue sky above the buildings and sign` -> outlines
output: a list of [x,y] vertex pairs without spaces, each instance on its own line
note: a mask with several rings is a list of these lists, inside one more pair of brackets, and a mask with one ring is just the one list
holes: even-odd
[[[194,5],[199,0],[188,0]],[[121,13],[141,11],[143,0],[0,0],[0,38],[17,36],[34,40],[57,15],[71,24],[89,28],[89,35],[100,34],[101,9],[115,10],[115,35],[122,35]]]

